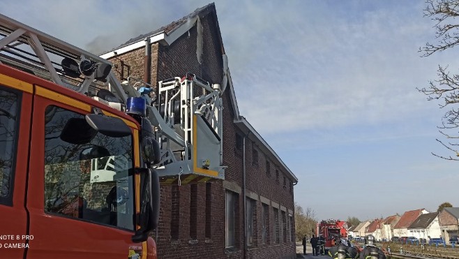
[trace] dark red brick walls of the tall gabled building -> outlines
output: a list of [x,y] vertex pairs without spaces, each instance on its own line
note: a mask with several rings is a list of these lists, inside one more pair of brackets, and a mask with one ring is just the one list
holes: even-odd
[[[191,72],[211,84],[223,80],[223,45],[213,5],[200,14],[202,24],[202,63],[197,59],[197,26],[171,45],[151,44],[151,83]],[[110,61],[121,75],[121,61],[130,75],[144,77],[144,48]],[[238,86],[236,86],[238,87]],[[243,87],[243,86],[239,86]],[[160,223],[155,238],[159,258],[295,258],[293,181],[280,161],[264,154],[259,141],[244,135],[234,124],[235,114],[228,86],[223,94],[223,165],[225,180],[161,186]],[[243,150],[245,138],[246,197],[253,200],[253,242],[244,249]],[[254,159],[253,154],[257,154]],[[267,165],[269,163],[269,165]],[[269,170],[266,168],[269,167]],[[278,177],[276,177],[276,171]],[[226,191],[235,193],[234,247],[225,247]],[[265,209],[262,209],[264,207]],[[267,209],[267,210],[266,210]],[[262,212],[265,215],[262,215]],[[274,213],[277,212],[277,215]],[[264,219],[264,221],[262,221]],[[275,224],[276,223],[276,224]],[[263,225],[266,242],[263,239]],[[277,231],[273,228],[277,226]],[[277,233],[276,237],[274,234]],[[244,255],[245,253],[245,255]]]

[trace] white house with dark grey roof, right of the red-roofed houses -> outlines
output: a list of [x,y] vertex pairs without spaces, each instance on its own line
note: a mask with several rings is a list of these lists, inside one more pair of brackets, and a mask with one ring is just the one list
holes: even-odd
[[408,227],[408,236],[428,239],[441,237],[442,231],[438,222],[439,212],[421,214]]

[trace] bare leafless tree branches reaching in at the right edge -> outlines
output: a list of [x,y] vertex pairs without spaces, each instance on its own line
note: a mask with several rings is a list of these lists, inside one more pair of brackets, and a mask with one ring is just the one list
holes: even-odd
[[[424,15],[435,21],[435,38],[436,43],[426,43],[424,47],[419,48],[421,57],[428,57],[436,52],[442,52],[459,44],[459,1],[458,0],[426,0]],[[455,152],[454,156],[434,156],[447,160],[459,160],[459,109],[456,103],[459,103],[459,75],[451,73],[449,66],[438,66],[437,80],[429,82],[428,87],[418,88],[423,94],[426,94],[429,101],[440,101],[439,108],[447,110],[442,118],[442,125],[437,126],[439,132],[447,141],[439,140],[446,149]]]

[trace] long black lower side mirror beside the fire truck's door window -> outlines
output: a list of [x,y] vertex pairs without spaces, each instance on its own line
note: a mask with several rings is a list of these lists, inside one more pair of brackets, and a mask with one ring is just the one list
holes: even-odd
[[158,227],[160,202],[158,173],[149,168],[138,168],[137,173],[141,174],[143,184],[140,190],[140,214],[137,216],[140,229],[132,237],[136,243],[146,241],[149,232]]

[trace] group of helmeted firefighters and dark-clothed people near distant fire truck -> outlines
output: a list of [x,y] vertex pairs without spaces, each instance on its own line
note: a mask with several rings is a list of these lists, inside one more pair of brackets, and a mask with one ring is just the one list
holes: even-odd
[[[359,251],[346,239],[340,239],[339,242],[335,239],[335,245],[329,249],[328,255],[334,259],[386,259],[386,255],[376,246],[375,241],[373,235],[367,235],[365,237],[365,246]],[[324,255],[324,237],[315,237],[313,235],[310,239],[310,244],[313,246],[313,256]],[[303,238],[303,254],[306,255],[306,236]]]

